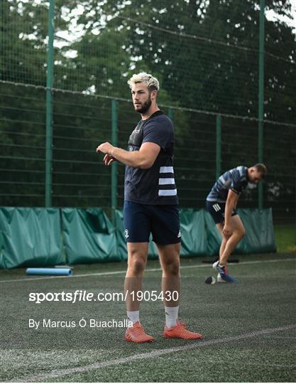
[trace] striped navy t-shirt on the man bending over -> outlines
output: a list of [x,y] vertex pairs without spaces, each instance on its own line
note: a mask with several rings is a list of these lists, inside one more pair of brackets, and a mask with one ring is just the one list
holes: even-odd
[[225,203],[229,189],[240,195],[241,191],[248,186],[247,171],[248,168],[246,166],[237,166],[226,171],[214,183],[212,191],[207,196],[207,201]]

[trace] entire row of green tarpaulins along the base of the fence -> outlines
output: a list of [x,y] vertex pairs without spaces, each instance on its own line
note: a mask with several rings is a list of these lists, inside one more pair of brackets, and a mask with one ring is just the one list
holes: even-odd
[[[276,252],[271,209],[241,209],[239,215],[246,236],[235,252]],[[209,213],[183,209],[180,221],[181,257],[218,255],[221,236]],[[152,241],[148,257],[158,257]],[[0,268],[126,259],[121,210],[115,229],[101,208],[0,208]]]

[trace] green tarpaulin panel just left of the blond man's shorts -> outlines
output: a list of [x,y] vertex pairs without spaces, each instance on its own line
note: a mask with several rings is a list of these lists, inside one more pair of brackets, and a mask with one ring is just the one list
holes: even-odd
[[114,228],[101,208],[62,208],[62,233],[70,264],[122,260]]

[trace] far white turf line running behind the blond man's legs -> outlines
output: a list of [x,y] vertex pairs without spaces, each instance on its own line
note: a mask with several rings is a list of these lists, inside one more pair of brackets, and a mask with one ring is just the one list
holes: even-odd
[[[245,264],[260,264],[262,262],[296,262],[296,259],[275,259],[275,260],[254,260],[254,261],[246,261],[231,264],[231,267],[236,265],[245,265]],[[209,268],[211,264],[198,264],[198,265],[182,265],[180,267],[181,270],[185,268]],[[150,268],[145,272],[157,272],[161,271],[161,268]],[[36,280],[46,280],[46,279],[74,279],[75,277],[89,277],[89,276],[105,276],[109,274],[121,274],[126,273],[126,270],[122,271],[114,271],[114,272],[96,272],[96,273],[85,273],[85,274],[72,274],[72,276],[43,276],[43,277],[30,277],[28,279],[11,279],[11,280],[2,280],[0,283],[6,282],[35,282]]]

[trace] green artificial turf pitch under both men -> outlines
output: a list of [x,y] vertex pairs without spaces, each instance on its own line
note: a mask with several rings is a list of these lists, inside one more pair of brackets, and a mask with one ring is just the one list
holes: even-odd
[[[204,284],[205,277],[214,272],[202,258],[181,260],[180,319],[189,329],[201,332],[202,341],[164,339],[160,300],[141,306],[141,322],[155,336],[153,343],[127,343],[123,328],[90,328],[88,324],[85,328],[29,329],[29,319],[76,323],[82,318],[126,319],[124,302],[35,304],[28,300],[31,292],[122,292],[124,263],[75,266],[74,277],[53,279],[28,278],[23,269],[1,271],[0,380],[294,382],[295,254],[236,258],[240,262],[230,265],[229,273],[239,283],[214,285]],[[148,262],[143,289],[160,292],[161,272],[154,270],[158,267],[157,260]]]

